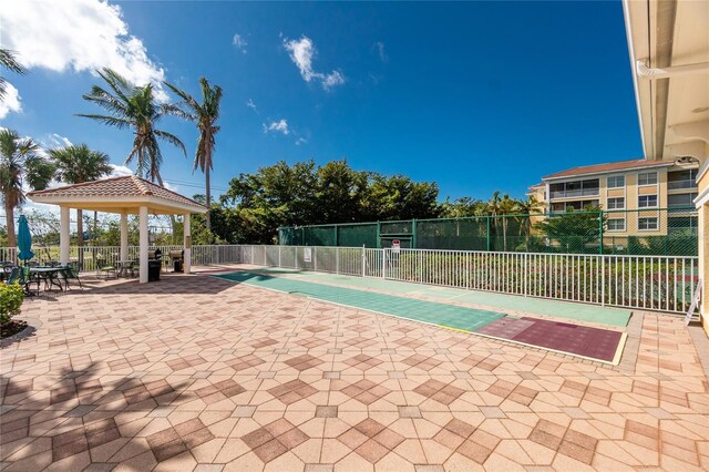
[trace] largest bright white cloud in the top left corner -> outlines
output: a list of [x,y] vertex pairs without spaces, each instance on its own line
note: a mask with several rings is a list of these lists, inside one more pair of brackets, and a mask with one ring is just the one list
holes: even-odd
[[135,84],[155,84],[157,99],[167,100],[161,86],[165,70],[148,58],[143,41],[130,34],[119,6],[18,1],[0,9],[0,23],[3,47],[17,51],[27,68],[95,73],[106,66]]

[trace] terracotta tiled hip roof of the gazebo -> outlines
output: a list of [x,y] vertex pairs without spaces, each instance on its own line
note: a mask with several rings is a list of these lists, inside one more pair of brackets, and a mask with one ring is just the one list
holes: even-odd
[[194,199],[135,175],[30,192],[28,196],[38,203],[65,203],[74,204],[76,207],[84,207],[82,204],[88,204],[89,202],[91,202],[92,207],[109,204],[121,206],[126,203],[135,205],[148,202],[152,203],[151,206],[164,208],[178,206],[182,209],[191,209],[195,213],[206,212],[206,207]]

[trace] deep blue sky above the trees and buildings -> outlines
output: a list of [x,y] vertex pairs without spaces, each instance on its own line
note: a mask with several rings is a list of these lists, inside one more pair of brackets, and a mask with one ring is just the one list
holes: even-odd
[[[21,110],[1,125],[48,145],[86,143],[122,165],[131,134],[73,115],[97,111],[81,99],[97,83],[90,70],[107,62],[193,94],[204,75],[225,92],[216,195],[280,160],[347,158],[436,181],[442,198],[486,198],[522,196],[563,168],[641,157],[618,1],[81,2],[92,8],[18,7],[29,31],[0,13],[0,43],[30,65],[7,74]],[[188,148],[185,158],[163,146],[164,178],[199,193],[193,125],[163,126]]]

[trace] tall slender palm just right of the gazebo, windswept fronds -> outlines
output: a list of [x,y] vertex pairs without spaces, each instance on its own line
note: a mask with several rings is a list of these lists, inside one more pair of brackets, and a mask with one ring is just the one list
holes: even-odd
[[[177,89],[175,85],[165,82],[173,92],[182,99],[177,106],[182,106],[183,117],[193,121],[199,130],[197,138],[197,150],[195,151],[195,164],[193,172],[199,167],[205,176],[206,202],[207,208],[212,206],[212,188],[209,186],[209,171],[213,168],[212,155],[216,146],[215,136],[219,132],[220,126],[215,123],[219,119],[219,102],[222,101],[222,88],[218,85],[209,86],[209,82],[202,78],[199,85],[202,86],[202,103],[198,103],[188,93]],[[206,214],[207,229],[212,229],[209,212]]]

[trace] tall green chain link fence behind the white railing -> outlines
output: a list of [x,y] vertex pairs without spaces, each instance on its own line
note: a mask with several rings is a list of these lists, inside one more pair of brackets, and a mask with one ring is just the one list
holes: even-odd
[[692,207],[281,227],[285,246],[697,256]]

